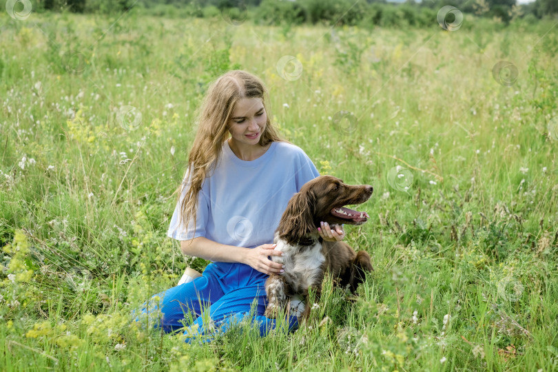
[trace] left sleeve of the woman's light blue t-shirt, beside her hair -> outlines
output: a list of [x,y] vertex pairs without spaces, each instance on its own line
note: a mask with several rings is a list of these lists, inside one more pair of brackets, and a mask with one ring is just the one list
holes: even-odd
[[187,171],[183,181],[180,200],[176,203],[176,208],[174,208],[174,214],[172,214],[169,230],[167,231],[167,236],[176,240],[190,240],[198,238],[199,236],[205,236],[205,227],[207,226],[207,220],[209,219],[209,198],[207,198],[204,187],[202,187],[198,193],[198,205],[196,207],[196,234],[194,234],[193,219],[189,220],[188,229],[185,229],[183,218],[180,218],[180,205],[182,204],[187,189],[190,186],[190,180],[191,176]]

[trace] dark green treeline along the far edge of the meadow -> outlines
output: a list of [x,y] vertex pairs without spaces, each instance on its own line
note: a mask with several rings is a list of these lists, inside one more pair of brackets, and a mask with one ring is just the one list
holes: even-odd
[[[0,0],[2,8],[5,3],[6,0]],[[558,16],[558,0],[536,0],[524,5],[517,5],[516,0],[423,0],[420,3],[414,0],[404,3],[385,0],[31,0],[31,3],[38,12],[112,14],[134,8],[165,17],[215,17],[226,12],[232,19],[267,24],[327,22],[420,27],[431,25],[443,6],[455,6],[461,12],[506,24],[519,18],[536,21]]]

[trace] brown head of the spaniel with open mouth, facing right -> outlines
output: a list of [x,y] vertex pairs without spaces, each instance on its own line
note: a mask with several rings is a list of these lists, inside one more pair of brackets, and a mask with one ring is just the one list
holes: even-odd
[[372,191],[370,185],[346,185],[333,176],[310,180],[289,201],[279,224],[281,238],[305,244],[321,221],[329,225],[362,225],[368,220],[368,214],[345,205],[364,203]]

